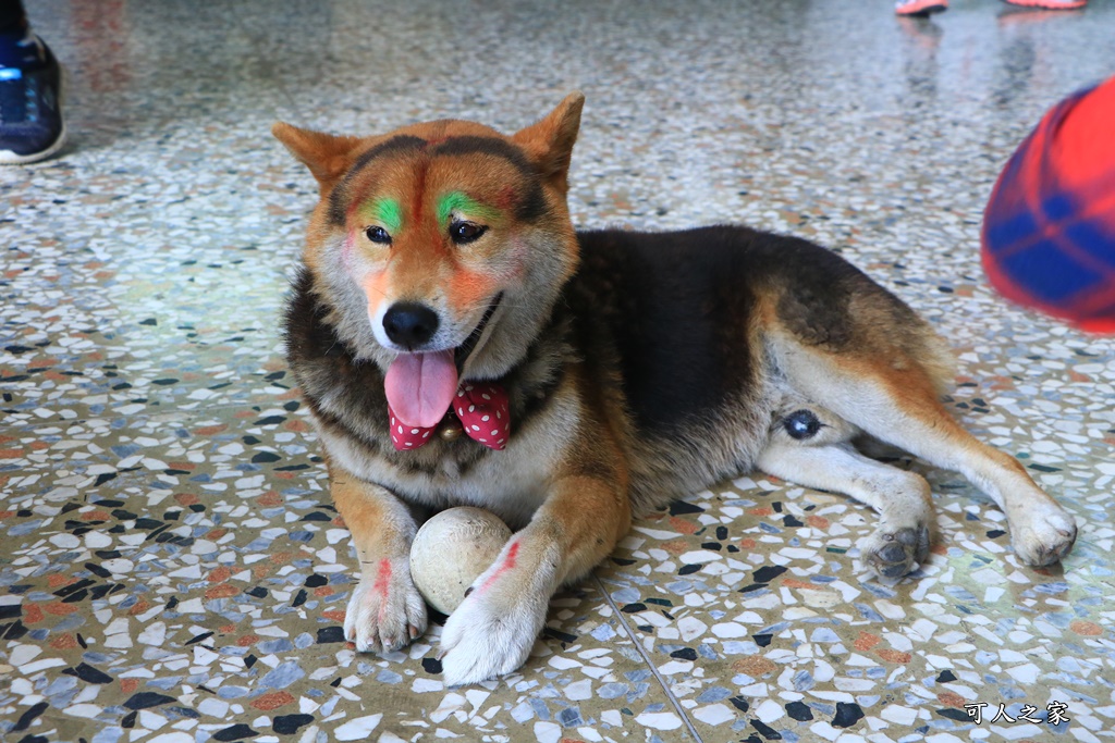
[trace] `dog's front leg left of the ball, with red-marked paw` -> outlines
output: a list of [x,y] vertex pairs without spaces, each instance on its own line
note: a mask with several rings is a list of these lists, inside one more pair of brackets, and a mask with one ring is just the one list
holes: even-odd
[[398,649],[426,629],[426,603],[410,578],[414,517],[384,488],[334,465],[329,467],[329,485],[360,560],[360,583],[345,614],[345,637],[360,652]]

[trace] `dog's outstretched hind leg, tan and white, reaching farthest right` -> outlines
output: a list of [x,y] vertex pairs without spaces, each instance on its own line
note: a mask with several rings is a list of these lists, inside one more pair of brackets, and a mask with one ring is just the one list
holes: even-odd
[[990,496],[1007,515],[1011,544],[1024,563],[1051,565],[1072,549],[1072,515],[1018,460],[966,431],[920,368],[835,359],[802,346],[783,346],[780,355],[779,365],[795,389],[871,436],[960,472]]

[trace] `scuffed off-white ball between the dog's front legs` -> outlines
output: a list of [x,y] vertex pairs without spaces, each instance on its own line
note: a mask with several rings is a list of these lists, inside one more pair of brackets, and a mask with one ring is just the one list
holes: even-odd
[[410,545],[410,577],[426,603],[452,614],[465,590],[511,539],[511,529],[482,508],[449,508],[426,521]]

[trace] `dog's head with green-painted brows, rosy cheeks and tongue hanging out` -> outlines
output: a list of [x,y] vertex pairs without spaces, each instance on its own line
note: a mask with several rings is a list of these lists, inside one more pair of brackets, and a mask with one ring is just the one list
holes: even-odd
[[404,422],[440,420],[458,375],[522,359],[575,271],[565,195],[584,97],[505,136],[440,120],[377,137],[275,124],[318,179],[304,262]]

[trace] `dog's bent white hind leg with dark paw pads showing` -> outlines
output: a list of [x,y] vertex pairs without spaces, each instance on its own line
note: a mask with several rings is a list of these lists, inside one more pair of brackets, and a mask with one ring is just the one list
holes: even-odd
[[859,547],[864,566],[884,578],[901,578],[929,556],[934,517],[924,478],[869,459],[849,443],[773,441],[756,466],[784,480],[843,492],[879,511],[879,528]]

